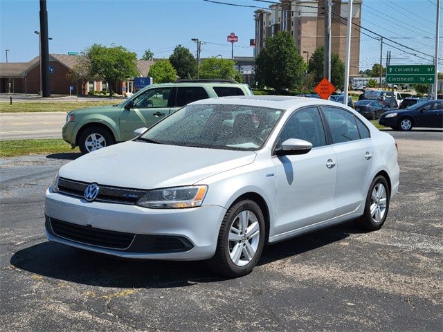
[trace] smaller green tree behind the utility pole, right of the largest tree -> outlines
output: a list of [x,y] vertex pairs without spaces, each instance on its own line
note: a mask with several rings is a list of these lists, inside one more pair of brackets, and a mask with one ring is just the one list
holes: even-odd
[[[323,78],[323,54],[323,46],[318,47],[312,53],[307,66],[307,72],[314,73],[316,84]],[[331,83],[337,89],[341,89],[345,84],[345,64],[335,53],[331,55]]]

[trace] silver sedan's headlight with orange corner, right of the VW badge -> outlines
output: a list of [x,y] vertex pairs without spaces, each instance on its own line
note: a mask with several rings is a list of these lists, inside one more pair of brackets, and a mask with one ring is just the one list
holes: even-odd
[[207,185],[150,190],[136,204],[152,209],[196,208],[203,203],[207,191]]

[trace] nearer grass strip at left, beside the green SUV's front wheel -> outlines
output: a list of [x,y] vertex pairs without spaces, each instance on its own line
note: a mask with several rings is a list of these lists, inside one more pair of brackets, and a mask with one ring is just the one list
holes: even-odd
[[59,154],[62,152],[79,152],[78,147],[59,138],[33,140],[0,140],[0,157],[14,157],[35,154]]

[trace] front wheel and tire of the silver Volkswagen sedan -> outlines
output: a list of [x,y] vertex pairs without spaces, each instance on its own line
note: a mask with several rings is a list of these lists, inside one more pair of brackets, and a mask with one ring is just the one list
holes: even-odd
[[[242,220],[248,223],[248,233],[244,232]],[[228,277],[247,275],[262,255],[265,232],[263,212],[257,203],[251,200],[235,203],[221,222],[217,249],[213,258],[207,261],[208,267],[214,273]]]

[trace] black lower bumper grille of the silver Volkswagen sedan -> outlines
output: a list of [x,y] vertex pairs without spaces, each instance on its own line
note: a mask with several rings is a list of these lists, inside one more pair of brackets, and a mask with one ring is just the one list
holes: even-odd
[[172,235],[150,235],[116,232],[68,223],[46,216],[45,227],[51,234],[70,241],[126,252],[168,253],[191,250],[184,238]]

